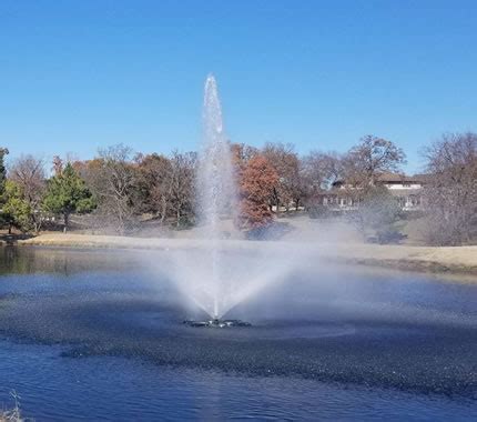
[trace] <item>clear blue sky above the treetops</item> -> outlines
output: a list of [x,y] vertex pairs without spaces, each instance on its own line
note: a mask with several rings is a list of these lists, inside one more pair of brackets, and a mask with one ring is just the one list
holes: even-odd
[[477,130],[477,1],[1,0],[12,157],[196,149],[213,72],[234,142],[405,149]]

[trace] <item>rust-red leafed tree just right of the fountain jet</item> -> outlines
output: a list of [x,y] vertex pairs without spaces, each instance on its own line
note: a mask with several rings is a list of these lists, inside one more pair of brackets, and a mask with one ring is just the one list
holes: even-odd
[[255,230],[273,221],[270,195],[278,182],[278,174],[263,155],[255,155],[245,165],[240,181],[241,230]]

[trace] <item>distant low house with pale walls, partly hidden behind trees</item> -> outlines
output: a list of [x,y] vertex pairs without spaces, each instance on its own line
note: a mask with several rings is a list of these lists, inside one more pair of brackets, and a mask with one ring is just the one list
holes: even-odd
[[[375,183],[386,187],[397,198],[404,211],[418,211],[423,208],[423,188],[426,177],[424,174],[406,175],[398,173],[383,173]],[[359,187],[337,180],[332,189],[321,191],[315,198],[317,202],[331,211],[343,212],[357,209],[356,195]]]

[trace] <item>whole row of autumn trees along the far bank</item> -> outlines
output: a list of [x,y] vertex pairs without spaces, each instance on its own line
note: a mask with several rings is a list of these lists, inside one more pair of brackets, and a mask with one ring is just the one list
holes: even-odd
[[[311,151],[300,155],[292,144],[263,148],[231,143],[238,210],[235,224],[258,233],[276,214],[296,210],[326,217],[322,195],[337,181],[359,205],[346,218],[379,240],[394,239],[403,211],[396,198],[377,183],[406,163],[394,142],[363,137],[345,153]],[[184,228],[196,221],[196,152],[142,154],[123,144],[101,149],[92,160],[21,155],[6,167],[0,149],[0,223],[10,232],[39,232],[61,225],[71,215],[128,234],[143,220]],[[429,244],[468,244],[477,239],[477,134],[450,133],[423,150],[425,188],[422,230]],[[51,174],[51,175],[50,175]],[[61,221],[61,223],[59,223]]]

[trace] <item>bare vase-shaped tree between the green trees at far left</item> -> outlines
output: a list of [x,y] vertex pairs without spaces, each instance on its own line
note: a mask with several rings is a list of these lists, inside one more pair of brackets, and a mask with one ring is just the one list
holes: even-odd
[[41,228],[41,201],[45,189],[44,161],[31,154],[21,155],[10,167],[9,179],[20,188],[23,200],[31,210],[31,225],[38,232]]

